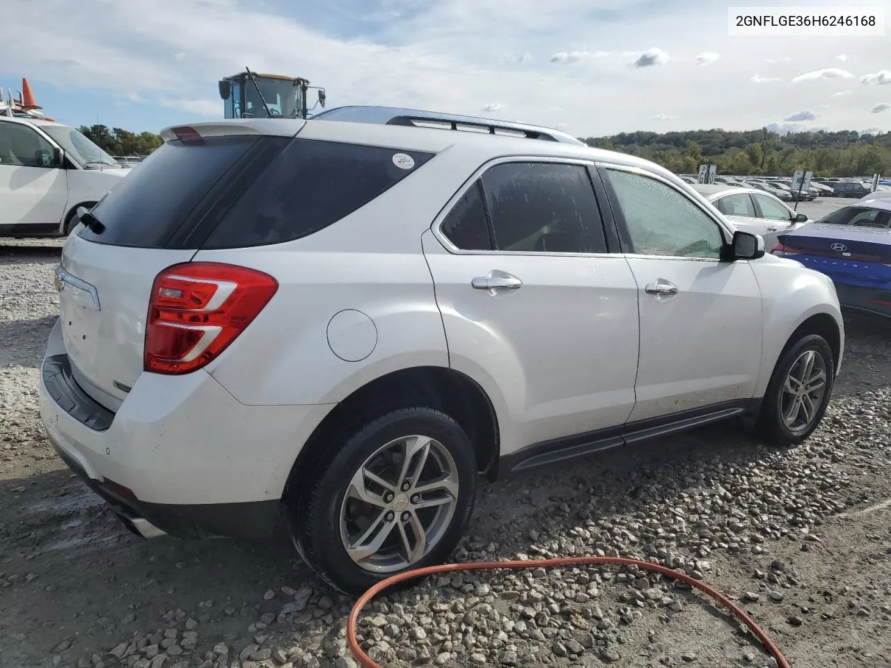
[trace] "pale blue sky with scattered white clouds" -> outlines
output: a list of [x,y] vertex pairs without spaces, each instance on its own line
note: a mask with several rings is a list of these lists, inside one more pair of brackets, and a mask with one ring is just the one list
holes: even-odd
[[[74,126],[158,132],[223,118],[217,80],[248,66],[324,86],[329,109],[440,110],[580,137],[891,131],[891,28],[883,37],[730,36],[728,7],[741,0],[3,4],[0,87],[19,90],[28,77],[45,114]],[[862,4],[891,20],[891,0]]]

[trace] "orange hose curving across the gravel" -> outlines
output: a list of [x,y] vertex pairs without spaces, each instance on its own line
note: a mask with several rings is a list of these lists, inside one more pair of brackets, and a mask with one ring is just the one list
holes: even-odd
[[359,647],[359,641],[358,639],[356,639],[356,620],[359,618],[359,614],[362,612],[362,609],[368,604],[371,599],[373,599],[378,593],[380,593],[380,591],[388,589],[388,587],[392,587],[398,582],[413,580],[414,578],[423,577],[424,575],[435,573],[453,573],[454,571],[488,571],[495,569],[519,570],[523,568],[552,568],[554,566],[596,565],[637,566],[644,571],[666,575],[666,577],[673,578],[674,580],[686,582],[687,584],[691,585],[691,587],[695,587],[699,591],[704,591],[710,597],[712,597],[719,603],[722,603],[725,607],[730,608],[733,615],[736,615],[740,620],[746,623],[749,630],[751,630],[752,633],[755,634],[757,639],[761,640],[761,642],[764,643],[764,647],[766,647],[767,650],[771,653],[771,656],[776,659],[779,668],[790,668],[789,661],[786,660],[785,656],[782,656],[780,649],[777,648],[772,639],[770,639],[767,634],[762,631],[761,627],[758,626],[751,617],[746,615],[745,611],[743,611],[741,607],[733,603],[732,600],[727,599],[704,582],[699,582],[699,580],[692,578],[688,574],[676,571],[672,568],[666,568],[666,566],[651,564],[649,561],[640,561],[638,559],[628,559],[622,557],[572,557],[556,559],[534,559],[528,561],[480,561],[470,564],[443,564],[440,566],[427,566],[426,568],[418,568],[413,571],[405,571],[405,573],[393,575],[392,577],[388,577],[386,580],[378,582],[370,590],[366,591],[362,596],[359,597],[358,600],[356,600],[356,603],[353,605],[353,609],[350,610],[349,619],[347,620],[347,641],[349,642],[350,651],[353,652],[353,656],[356,656],[356,660],[360,664],[362,664],[364,668],[382,668],[380,664],[377,664],[374,660],[372,660],[372,657],[365,654],[363,649]]

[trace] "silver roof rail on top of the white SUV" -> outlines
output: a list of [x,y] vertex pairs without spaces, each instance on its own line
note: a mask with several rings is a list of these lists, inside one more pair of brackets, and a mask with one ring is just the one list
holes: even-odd
[[461,114],[440,113],[401,107],[348,106],[315,114],[313,120],[339,120],[351,123],[376,123],[387,126],[437,127],[447,130],[460,130],[478,134],[498,134],[502,136],[541,139],[546,142],[574,143],[584,145],[576,137],[550,127],[530,126],[525,123],[462,116]]

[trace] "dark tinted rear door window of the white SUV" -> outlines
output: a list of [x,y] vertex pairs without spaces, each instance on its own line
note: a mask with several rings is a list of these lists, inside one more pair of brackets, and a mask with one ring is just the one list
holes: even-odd
[[483,175],[499,250],[606,253],[601,212],[581,165],[507,162]]

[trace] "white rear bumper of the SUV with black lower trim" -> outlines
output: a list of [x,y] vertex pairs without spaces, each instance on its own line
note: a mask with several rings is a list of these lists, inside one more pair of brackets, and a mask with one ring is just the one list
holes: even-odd
[[111,413],[68,370],[59,323],[40,373],[53,447],[143,535],[272,533],[290,469],[328,405],[246,406],[205,371],[143,373]]

